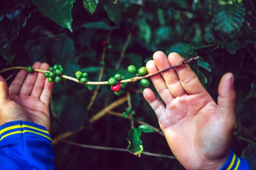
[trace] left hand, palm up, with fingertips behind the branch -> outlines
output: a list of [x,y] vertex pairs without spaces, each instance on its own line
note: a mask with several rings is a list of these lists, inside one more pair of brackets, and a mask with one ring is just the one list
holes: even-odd
[[[33,68],[48,70],[47,63],[36,62]],[[7,86],[0,76],[0,125],[11,121],[30,121],[50,131],[49,102],[53,83],[43,73],[21,70]]]

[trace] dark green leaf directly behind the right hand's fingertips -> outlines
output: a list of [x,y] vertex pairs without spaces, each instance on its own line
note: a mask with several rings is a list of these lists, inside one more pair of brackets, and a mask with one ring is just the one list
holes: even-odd
[[170,49],[167,49],[165,51],[166,55],[172,52],[176,52],[180,54],[184,58],[188,58],[189,55],[191,55],[194,51],[194,47],[190,44],[184,44],[184,43],[178,43],[173,46],[171,46]]

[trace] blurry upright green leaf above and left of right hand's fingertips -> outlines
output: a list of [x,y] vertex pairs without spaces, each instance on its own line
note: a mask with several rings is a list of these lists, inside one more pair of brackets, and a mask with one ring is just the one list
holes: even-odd
[[146,45],[150,43],[152,31],[151,28],[146,20],[139,20],[138,21],[138,27],[139,27],[139,37],[144,40]]

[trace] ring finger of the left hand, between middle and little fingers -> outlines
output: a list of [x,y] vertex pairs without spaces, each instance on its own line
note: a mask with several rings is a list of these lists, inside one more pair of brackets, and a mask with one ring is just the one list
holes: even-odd
[[[47,63],[43,63],[43,64],[41,64],[40,69],[41,70],[48,70],[49,65]],[[40,97],[40,95],[43,91],[43,88],[44,88],[45,79],[46,79],[46,77],[45,77],[44,73],[38,73],[35,85],[34,85],[33,90],[31,92],[31,96],[38,97],[38,98]]]

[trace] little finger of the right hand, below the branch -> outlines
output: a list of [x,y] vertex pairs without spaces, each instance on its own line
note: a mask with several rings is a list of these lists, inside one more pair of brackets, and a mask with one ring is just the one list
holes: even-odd
[[144,98],[151,106],[151,108],[155,111],[157,118],[160,117],[165,110],[164,103],[157,98],[155,93],[150,88],[145,88],[143,91]]

